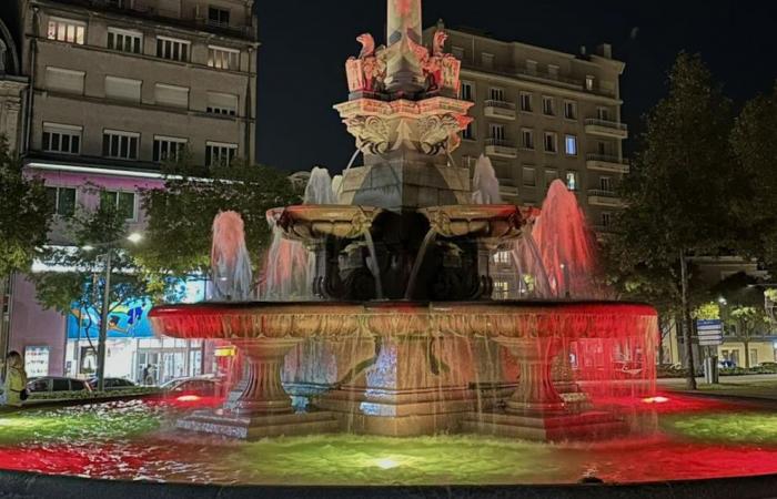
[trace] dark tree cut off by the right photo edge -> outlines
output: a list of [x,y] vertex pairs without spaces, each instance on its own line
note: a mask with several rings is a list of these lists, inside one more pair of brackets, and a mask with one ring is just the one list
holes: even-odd
[[748,102],[731,132],[747,195],[736,206],[738,249],[769,266],[777,264],[777,82],[771,94]]

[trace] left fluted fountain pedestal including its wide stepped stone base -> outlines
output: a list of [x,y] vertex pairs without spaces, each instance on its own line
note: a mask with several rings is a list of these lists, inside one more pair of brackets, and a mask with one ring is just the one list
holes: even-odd
[[180,419],[178,427],[250,440],[336,431],[339,424],[329,413],[295,414],[281,384],[283,359],[300,342],[302,338],[234,342],[246,360],[238,396],[221,409],[196,411]]

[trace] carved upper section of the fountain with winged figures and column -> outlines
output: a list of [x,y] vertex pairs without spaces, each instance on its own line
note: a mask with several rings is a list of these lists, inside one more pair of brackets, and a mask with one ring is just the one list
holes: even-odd
[[387,47],[359,37],[362,52],[349,59],[349,101],[335,109],[364,165],[347,169],[341,202],[392,212],[466,204],[468,169],[452,164],[473,103],[457,99],[461,62],[445,52],[447,35],[423,45],[421,0],[387,0]]

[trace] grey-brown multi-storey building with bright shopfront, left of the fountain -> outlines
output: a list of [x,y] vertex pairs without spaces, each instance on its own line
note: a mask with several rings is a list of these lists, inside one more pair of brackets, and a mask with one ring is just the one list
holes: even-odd
[[[206,166],[254,162],[253,0],[22,3],[20,65],[31,92],[20,151],[56,204],[52,244],[69,244],[64,221],[100,202],[125,213],[128,233],[142,231],[139,192],[163,185],[162,163],[184,153]],[[31,353],[36,374],[88,374],[80,324],[42,310],[23,276],[13,288],[10,348]],[[158,381],[196,374],[200,345],[113,333],[108,355],[122,361],[109,359],[109,376],[138,379],[148,364]]]

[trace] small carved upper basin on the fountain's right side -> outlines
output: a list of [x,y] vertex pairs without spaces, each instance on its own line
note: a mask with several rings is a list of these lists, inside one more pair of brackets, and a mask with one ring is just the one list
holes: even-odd
[[433,206],[418,212],[443,237],[507,241],[519,237],[526,225],[521,208],[511,204]]

